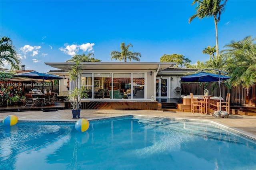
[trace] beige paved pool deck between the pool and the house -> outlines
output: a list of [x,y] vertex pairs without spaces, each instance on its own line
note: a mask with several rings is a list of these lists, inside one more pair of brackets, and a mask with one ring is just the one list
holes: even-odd
[[[24,111],[0,113],[0,120],[8,115],[18,116],[20,121],[77,121],[72,119],[71,110],[57,111]],[[123,115],[141,115],[153,117],[168,117],[178,119],[196,119],[213,121],[225,127],[232,128],[238,132],[256,139],[256,116],[230,115],[227,119],[216,118],[212,115],[201,115],[200,113],[172,112],[158,110],[81,110],[80,118],[99,119],[105,117],[116,117]]]

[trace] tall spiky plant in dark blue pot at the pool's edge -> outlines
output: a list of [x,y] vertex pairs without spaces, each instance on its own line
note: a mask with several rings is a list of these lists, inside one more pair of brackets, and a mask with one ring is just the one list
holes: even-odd
[[80,104],[82,98],[88,97],[88,89],[85,87],[78,88],[78,79],[81,76],[82,68],[80,67],[80,61],[75,61],[75,64],[71,66],[70,73],[70,81],[72,81],[74,85],[74,89],[71,90],[71,94],[68,95],[68,100],[70,101],[73,109],[73,119],[79,119],[80,118]]

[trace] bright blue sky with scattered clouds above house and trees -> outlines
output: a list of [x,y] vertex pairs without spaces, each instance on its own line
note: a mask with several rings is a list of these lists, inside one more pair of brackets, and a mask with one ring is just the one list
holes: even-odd
[[[26,69],[39,72],[54,69],[44,62],[64,62],[75,54],[94,53],[109,62],[110,52],[120,51],[122,42],[131,43],[142,62],[176,53],[193,64],[209,59],[202,50],[216,40],[213,18],[188,24],[196,12],[192,2],[1,0],[0,36],[13,41]],[[228,0],[218,23],[220,50],[246,36],[256,37],[256,0]]]

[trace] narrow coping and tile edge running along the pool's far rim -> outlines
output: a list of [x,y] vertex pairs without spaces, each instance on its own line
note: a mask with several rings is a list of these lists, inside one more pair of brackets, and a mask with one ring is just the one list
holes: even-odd
[[[110,117],[99,117],[99,118],[91,118],[91,119],[87,119],[89,122],[96,122],[96,121],[104,121],[104,120],[109,120],[109,119],[122,119],[122,118],[157,118],[157,119],[165,119],[165,120],[172,120],[172,121],[184,121],[184,122],[202,122],[202,123],[210,123],[212,125],[216,125],[219,128],[223,128],[225,130],[229,130],[230,132],[234,132],[235,134],[238,134],[242,137],[251,139],[256,141],[256,135],[253,134],[248,134],[247,132],[243,131],[243,130],[238,130],[238,129],[234,129],[234,128],[230,128],[227,127],[225,125],[222,125],[220,123],[216,123],[214,121],[210,121],[210,120],[202,120],[202,119],[187,119],[187,118],[170,118],[170,117],[157,117],[157,116],[143,116],[143,115],[122,115],[122,116],[110,116]],[[36,120],[36,119],[27,119],[27,120],[20,120],[18,122],[21,123],[68,123],[68,124],[73,124],[76,121],[78,121],[79,119],[74,119],[74,120],[58,120],[58,121],[52,121],[52,120]],[[3,120],[0,120],[0,123],[2,123]]]

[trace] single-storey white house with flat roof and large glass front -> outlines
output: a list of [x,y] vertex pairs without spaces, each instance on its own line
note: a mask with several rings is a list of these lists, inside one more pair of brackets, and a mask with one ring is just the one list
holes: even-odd
[[[51,74],[65,76],[60,80],[60,91],[74,89],[68,79],[72,62],[45,63],[58,70]],[[175,62],[81,62],[82,75],[78,85],[86,87],[88,98],[82,102],[156,102],[157,98],[178,98],[180,76],[187,70],[170,68]],[[156,103],[154,103],[155,105]],[[130,103],[128,103],[130,105]],[[149,103],[150,105],[150,103]],[[95,108],[94,108],[95,109]],[[134,107],[130,108],[134,109]]]

